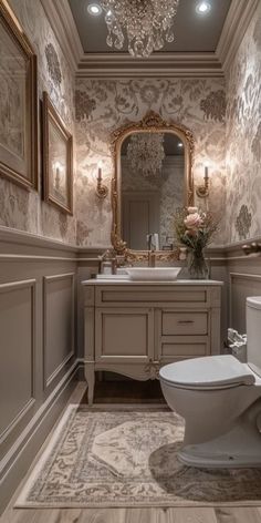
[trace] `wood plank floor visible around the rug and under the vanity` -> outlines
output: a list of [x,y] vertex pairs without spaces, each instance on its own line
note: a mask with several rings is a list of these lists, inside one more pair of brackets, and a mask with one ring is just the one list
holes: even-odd
[[[124,384],[121,382],[103,383],[96,389],[95,401],[113,403],[118,402],[119,398],[122,402],[134,400],[147,402],[149,399],[152,402],[158,402],[160,400],[161,394],[157,384],[155,388],[148,386],[148,389],[146,387],[143,389],[143,387],[134,383],[129,386],[126,382]],[[153,388],[149,390],[149,387]],[[79,383],[70,402],[76,403],[85,400],[85,383]],[[21,486],[18,492],[20,489]],[[258,507],[13,509],[18,492],[0,517],[0,523],[261,523],[261,503]]]

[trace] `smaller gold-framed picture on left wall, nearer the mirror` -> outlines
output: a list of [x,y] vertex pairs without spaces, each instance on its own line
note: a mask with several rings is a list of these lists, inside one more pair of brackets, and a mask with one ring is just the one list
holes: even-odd
[[73,139],[43,92],[43,196],[73,214]]

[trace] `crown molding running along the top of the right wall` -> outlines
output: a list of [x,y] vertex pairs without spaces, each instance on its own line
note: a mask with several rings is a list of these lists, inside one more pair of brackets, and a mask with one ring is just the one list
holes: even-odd
[[216,50],[227,73],[260,0],[232,0]]

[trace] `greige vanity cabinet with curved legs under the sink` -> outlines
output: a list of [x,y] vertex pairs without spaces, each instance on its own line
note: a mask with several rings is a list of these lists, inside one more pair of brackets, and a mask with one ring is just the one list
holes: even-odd
[[83,281],[90,404],[95,370],[147,380],[157,378],[163,365],[219,353],[221,285]]

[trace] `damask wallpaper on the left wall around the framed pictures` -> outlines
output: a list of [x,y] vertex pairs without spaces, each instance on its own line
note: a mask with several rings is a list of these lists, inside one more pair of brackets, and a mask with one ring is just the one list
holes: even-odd
[[[40,0],[10,0],[38,54],[39,99],[43,90],[74,133],[74,72],[53,34]],[[39,158],[39,176],[41,153]],[[40,183],[41,187],[41,183]],[[0,177],[0,225],[75,243],[75,218],[60,213],[28,192]]]

